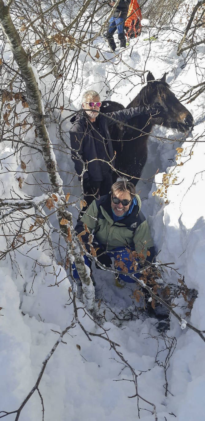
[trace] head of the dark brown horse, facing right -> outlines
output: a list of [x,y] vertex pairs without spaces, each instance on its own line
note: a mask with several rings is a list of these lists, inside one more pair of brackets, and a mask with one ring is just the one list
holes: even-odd
[[176,98],[174,93],[170,91],[169,85],[166,83],[166,73],[161,79],[155,80],[151,72],[147,74],[147,85],[140,92],[144,104],[158,102],[165,109],[162,117],[154,118],[154,123],[163,125],[167,128],[173,128],[177,131],[191,131],[193,128],[192,114],[184,107]]

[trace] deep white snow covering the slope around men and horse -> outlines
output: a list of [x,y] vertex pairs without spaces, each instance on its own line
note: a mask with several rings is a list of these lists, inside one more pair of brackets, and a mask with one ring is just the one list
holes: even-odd
[[[145,23],[145,25],[148,24],[149,22]],[[183,16],[180,29],[185,26],[186,16]],[[91,56],[87,56],[86,64],[84,64],[86,53],[82,51],[78,63],[78,77],[79,80],[81,78],[81,82],[83,81],[83,89],[93,88],[100,92],[101,99],[112,99],[127,105],[141,89],[139,72],[144,69],[145,58],[147,58],[146,70],[151,70],[156,78],[162,77],[164,72],[167,72],[167,82],[178,98],[187,90],[187,87],[199,83],[194,60],[186,63],[186,66],[182,68],[184,61],[176,55],[174,43],[165,43],[163,40],[153,42],[151,54],[148,56],[149,41],[145,42],[143,38],[149,35],[146,28],[143,28],[143,31],[138,43],[135,44],[135,40],[131,40],[129,49],[123,52],[124,62],[118,64],[118,75],[114,78],[113,68],[119,59],[115,58],[108,48],[105,48],[108,61],[102,63],[91,58],[95,55],[97,46],[104,42],[102,38],[96,40],[96,44],[90,47]],[[168,29],[161,36],[164,40],[173,40],[178,37],[176,32],[171,33]],[[129,57],[132,46],[132,55]],[[199,53],[199,56],[201,69],[204,69],[204,54]],[[69,60],[71,57],[72,51]],[[135,72],[129,69],[126,78],[120,80],[119,74],[127,71],[127,66],[132,67]],[[32,69],[39,83],[38,69],[34,66]],[[49,77],[43,79],[45,85],[47,84],[45,88],[47,93],[50,86]],[[68,77],[65,89],[73,101],[71,108],[80,109],[80,83],[76,84],[70,93]],[[182,321],[179,324],[178,320],[172,316],[170,330],[167,331],[168,338],[176,338],[177,342],[167,368],[169,391],[167,397],[165,397],[163,367],[168,354],[165,344],[167,337],[159,336],[156,330],[157,320],[151,317],[141,317],[136,320],[133,318],[133,320],[120,323],[113,313],[119,314],[121,310],[133,308],[132,303],[135,303],[133,290],[138,289],[138,286],[129,284],[125,288],[117,288],[114,275],[96,269],[93,264],[97,304],[100,307],[100,314],[103,315],[105,312],[103,324],[99,326],[95,323],[83,308],[84,305],[78,299],[76,300],[77,306],[80,307],[78,319],[84,331],[76,321],[76,324],[62,338],[46,365],[39,385],[45,408],[45,421],[67,421],[68,418],[72,421],[81,419],[94,421],[96,417],[100,421],[138,419],[137,398],[128,398],[135,395],[136,389],[132,373],[125,361],[138,376],[140,396],[156,405],[158,421],[165,419],[171,421],[175,418],[179,421],[192,421],[196,417],[199,421],[204,420],[205,344],[197,333],[187,327],[187,322],[189,322],[197,329],[205,330],[203,101],[201,95],[192,103],[183,102],[194,115],[193,137],[188,135],[182,138],[181,134],[173,133],[169,129],[156,128],[154,135],[165,137],[166,140],[159,141],[154,136],[150,136],[148,162],[142,175],[144,181],[140,181],[137,186],[137,192],[140,191],[140,197],[143,198],[142,211],[148,218],[154,244],[159,251],[156,267],[159,268],[161,262],[169,264],[169,267],[164,268],[163,282],[165,285],[173,284],[177,287],[178,279],[183,280],[184,277],[186,286],[197,290],[190,317],[186,315],[187,303],[183,296],[180,295],[175,299],[174,310],[182,317]],[[64,113],[69,117],[66,110]],[[62,126],[64,133],[67,133],[70,128],[69,118]],[[47,130],[52,144],[57,144],[54,125],[49,125]],[[30,134],[33,139],[32,130]],[[68,142],[68,138],[65,138],[65,141]],[[183,149],[181,155],[176,151],[178,147]],[[44,177],[43,173],[39,176],[40,180],[44,177],[45,192],[43,190],[42,193],[40,189],[36,191],[35,187],[26,183],[20,190],[15,180],[16,172],[21,174],[21,178],[22,175],[24,176],[24,181],[29,180],[30,184],[33,184],[33,179],[29,174],[27,179],[25,178],[27,174],[19,165],[20,155],[11,156],[14,152],[11,149],[11,143],[4,142],[3,144],[2,142],[0,148],[2,164],[0,197],[9,200],[16,199],[21,203],[19,195],[21,195],[21,200],[25,200],[30,195],[34,197],[35,204],[46,201],[48,198],[46,176]],[[56,147],[52,149],[51,155],[53,158],[56,155],[60,167],[60,176],[57,175],[59,186],[62,184],[70,186],[74,171],[70,155],[61,154]],[[183,165],[179,165],[181,163]],[[32,160],[29,165],[29,171],[36,170],[38,176],[38,170],[42,168],[40,158]],[[154,183],[147,183],[146,178],[155,174],[158,168],[159,173],[154,177]],[[166,194],[163,189],[161,197],[159,194],[153,195],[153,192],[162,187],[165,173],[170,174],[170,185]],[[172,184],[173,180],[175,181]],[[77,178],[74,179],[72,185],[75,186],[71,188],[72,200],[76,200],[76,196],[81,192]],[[67,187],[64,189],[67,192]],[[165,203],[166,200],[167,203]],[[78,203],[77,205],[79,208]],[[75,224],[75,218],[78,216],[76,205],[68,206],[70,210],[72,209]],[[30,218],[30,220],[32,224],[33,219]],[[11,225],[17,230],[13,221]],[[5,229],[5,225],[3,228]],[[2,233],[3,231],[0,236],[0,249],[5,250],[6,242]],[[9,229],[5,233],[8,236],[11,235]],[[27,243],[22,243],[19,249],[15,252],[11,250],[10,256],[7,255],[0,261],[1,411],[13,411],[19,408],[35,385],[43,361],[50,354],[61,331],[70,326],[74,320],[68,272],[66,273],[61,266],[57,253],[52,253],[49,243],[43,247],[32,232],[27,235],[32,239],[32,247]],[[73,258],[70,261],[73,263]],[[55,285],[56,282],[58,286]],[[76,285],[73,292],[75,291]],[[150,297],[148,301],[151,302],[152,298]],[[85,331],[91,340],[86,336]],[[111,347],[110,342],[102,336],[109,337],[120,346]],[[140,419],[154,420],[152,405],[139,400],[139,408]],[[15,414],[5,418],[12,421],[15,419]],[[38,392],[35,392],[22,410],[19,421],[41,419],[42,406]]]

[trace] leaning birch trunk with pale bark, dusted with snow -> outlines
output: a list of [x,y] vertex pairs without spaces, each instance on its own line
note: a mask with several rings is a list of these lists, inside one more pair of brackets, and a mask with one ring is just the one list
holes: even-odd
[[[11,20],[9,7],[5,5],[3,0],[0,0],[0,24],[10,45],[11,51],[13,53],[13,58],[15,59],[19,67],[22,78],[26,85],[27,102],[29,104],[30,113],[32,115],[33,122],[35,124],[38,138],[42,147],[42,155],[44,163],[46,165],[46,170],[49,175],[51,187],[54,190],[54,192],[57,192],[60,196],[60,200],[58,201],[58,207],[61,209],[59,209],[57,212],[58,221],[60,223],[62,218],[66,218],[69,221],[70,226],[73,228],[73,218],[71,213],[67,212],[65,208],[62,209],[62,207],[66,203],[66,200],[62,189],[62,180],[57,171],[57,163],[53,152],[53,146],[45,125],[44,108],[41,99],[40,85],[38,84],[38,80],[36,80],[35,78],[35,74],[33,72],[28,56],[21,45],[21,39],[19,37],[19,34],[16,31],[16,28],[14,27],[13,22]],[[59,226],[65,238],[65,234],[67,234],[67,227],[62,226],[60,224]],[[82,282],[82,287],[84,290],[84,303],[88,310],[92,310],[94,309],[95,300],[94,286],[88,272],[86,271],[84,258],[81,255],[81,250],[78,245],[76,235],[74,234],[73,229],[71,231],[73,232],[72,241],[68,242],[68,244],[70,245],[70,252],[72,252],[75,258],[76,268],[78,270],[78,274]]]

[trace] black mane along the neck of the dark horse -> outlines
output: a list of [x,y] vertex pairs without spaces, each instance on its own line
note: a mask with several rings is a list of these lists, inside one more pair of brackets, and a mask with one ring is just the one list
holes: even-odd
[[[151,84],[154,83],[157,92],[159,93],[160,97],[163,97],[166,99],[166,89],[169,89],[170,86],[167,82],[162,82],[161,80],[156,80],[154,82],[151,82]],[[153,97],[153,89],[152,85],[150,83],[147,83],[146,86],[144,86],[141,91],[138,93],[137,96],[127,105],[127,108],[130,107],[139,107],[139,105],[148,105],[155,101]]]

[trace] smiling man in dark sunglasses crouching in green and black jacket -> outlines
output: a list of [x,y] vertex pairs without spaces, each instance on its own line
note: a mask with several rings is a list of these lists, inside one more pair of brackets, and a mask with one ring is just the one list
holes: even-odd
[[[141,200],[135,194],[135,186],[126,179],[121,179],[114,183],[108,195],[94,200],[86,210],[81,220],[76,225],[76,233],[80,234],[88,227],[89,232],[94,234],[93,246],[97,249],[97,259],[100,263],[111,267],[111,257],[114,257],[115,267],[118,270],[123,268],[129,273],[134,272],[135,264],[140,268],[137,252],[146,260],[154,258],[154,246],[148,228],[146,218],[140,210]],[[82,235],[82,240],[89,251],[89,233]],[[102,254],[103,253],[103,254]],[[100,256],[99,256],[100,255]],[[84,256],[85,263],[91,267],[87,256]],[[119,266],[119,261],[123,262]],[[73,276],[78,278],[78,273],[73,272]],[[141,274],[136,274],[136,277]],[[124,282],[135,282],[131,277],[120,274],[119,278]]]

